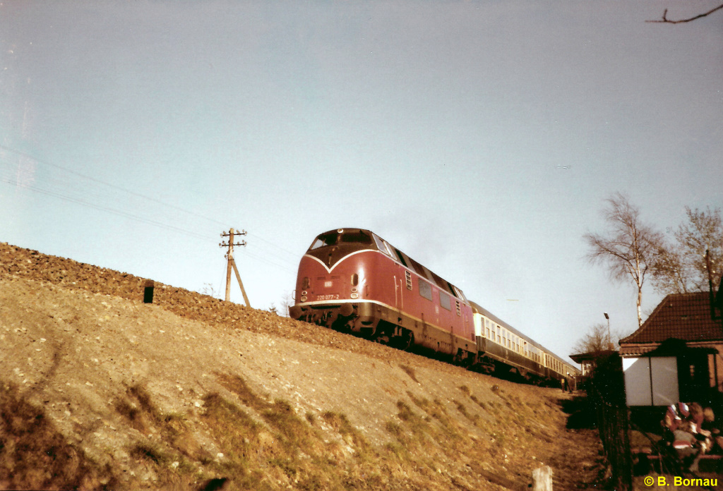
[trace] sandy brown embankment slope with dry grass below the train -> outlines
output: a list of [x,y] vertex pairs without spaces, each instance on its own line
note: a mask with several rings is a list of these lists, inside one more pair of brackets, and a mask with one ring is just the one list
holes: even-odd
[[0,243],[0,489],[555,489],[564,398]]

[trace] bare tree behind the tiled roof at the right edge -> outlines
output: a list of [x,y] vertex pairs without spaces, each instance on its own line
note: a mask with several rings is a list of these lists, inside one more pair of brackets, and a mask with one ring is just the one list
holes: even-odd
[[714,286],[723,273],[723,218],[721,209],[704,211],[685,207],[688,221],[674,233],[675,242],[659,249],[653,284],[662,293],[688,293],[708,290],[706,251],[710,253]]

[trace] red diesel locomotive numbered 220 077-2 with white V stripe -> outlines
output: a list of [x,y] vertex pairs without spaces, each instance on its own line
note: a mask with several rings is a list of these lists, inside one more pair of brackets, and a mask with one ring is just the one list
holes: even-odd
[[292,318],[401,349],[427,347],[476,360],[472,308],[461,290],[378,235],[359,228],[319,235],[299,264]]

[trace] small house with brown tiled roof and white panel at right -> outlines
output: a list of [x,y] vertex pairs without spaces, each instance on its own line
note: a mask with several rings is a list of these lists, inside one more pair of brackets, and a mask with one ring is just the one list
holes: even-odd
[[629,405],[666,405],[670,399],[721,393],[720,310],[711,306],[709,292],[667,295],[640,329],[620,339],[620,355]]

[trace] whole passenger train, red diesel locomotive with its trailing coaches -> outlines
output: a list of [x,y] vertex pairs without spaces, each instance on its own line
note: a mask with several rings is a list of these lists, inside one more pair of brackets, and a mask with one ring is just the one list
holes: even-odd
[[369,230],[340,228],[315,238],[299,263],[289,312],[505,378],[560,383],[578,372]]

